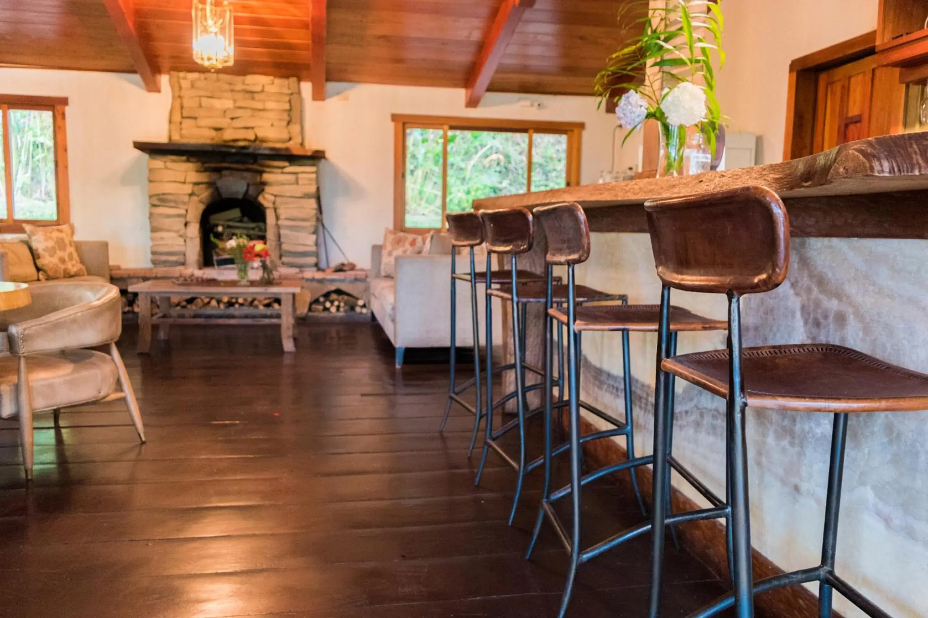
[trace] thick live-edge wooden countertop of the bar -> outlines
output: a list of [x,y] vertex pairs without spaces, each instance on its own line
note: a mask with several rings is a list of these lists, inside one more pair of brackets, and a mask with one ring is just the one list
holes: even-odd
[[793,236],[928,239],[928,132],[873,137],[740,170],[490,197],[475,200],[474,208],[577,202],[593,232],[647,233],[648,199],[753,184],[782,197]]

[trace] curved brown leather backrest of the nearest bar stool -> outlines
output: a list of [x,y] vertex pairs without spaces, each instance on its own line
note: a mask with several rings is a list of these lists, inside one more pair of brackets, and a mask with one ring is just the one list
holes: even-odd
[[741,295],[767,292],[786,278],[790,220],[766,187],[649,200],[645,210],[665,285]]

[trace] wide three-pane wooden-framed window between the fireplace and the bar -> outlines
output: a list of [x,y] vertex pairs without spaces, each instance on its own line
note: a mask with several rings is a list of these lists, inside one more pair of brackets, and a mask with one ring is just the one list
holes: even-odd
[[393,227],[445,227],[473,200],[574,186],[584,123],[393,115]]

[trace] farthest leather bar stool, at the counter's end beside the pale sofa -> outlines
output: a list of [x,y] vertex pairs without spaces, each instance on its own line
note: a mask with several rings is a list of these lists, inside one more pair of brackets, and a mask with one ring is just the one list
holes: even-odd
[[[451,252],[451,359],[449,362],[451,376],[448,381],[448,400],[445,404],[445,415],[442,417],[442,423],[439,425],[439,433],[445,431],[445,423],[451,414],[451,407],[457,403],[464,410],[468,410],[474,415],[473,432],[470,435],[470,449],[468,455],[473,452],[473,446],[477,439],[477,433],[480,429],[480,422],[483,419],[483,405],[481,397],[481,372],[480,372],[480,323],[477,318],[477,283],[483,282],[486,289],[490,289],[493,284],[505,284],[511,282],[509,271],[493,271],[490,268],[490,260],[486,260],[486,270],[477,271],[475,268],[474,249],[483,245],[483,222],[480,215],[476,212],[458,212],[445,215],[445,221],[448,224],[448,236],[451,239],[451,245],[454,250]],[[467,247],[469,249],[470,271],[458,272],[457,254],[458,247]],[[487,272],[490,277],[487,277]],[[536,274],[532,271],[518,271],[517,281],[519,284],[542,282],[544,275]],[[474,377],[467,382],[458,385],[458,366],[457,366],[457,339],[458,339],[458,281],[470,284],[470,322],[473,329],[473,363]],[[486,298],[487,305],[490,298]],[[487,322],[489,323],[489,322]],[[489,348],[488,348],[489,349]],[[492,352],[491,352],[492,353]],[[497,371],[502,371],[505,367]],[[471,386],[476,388],[476,402],[471,406],[461,395]]]

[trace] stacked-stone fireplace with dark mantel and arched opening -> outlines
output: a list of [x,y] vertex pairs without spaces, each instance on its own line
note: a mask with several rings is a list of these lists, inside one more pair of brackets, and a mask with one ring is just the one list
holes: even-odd
[[152,266],[213,266],[211,233],[260,237],[263,223],[276,267],[315,270],[324,154],[303,147],[299,81],[172,73],[171,88],[170,141],[135,143],[148,153]]

